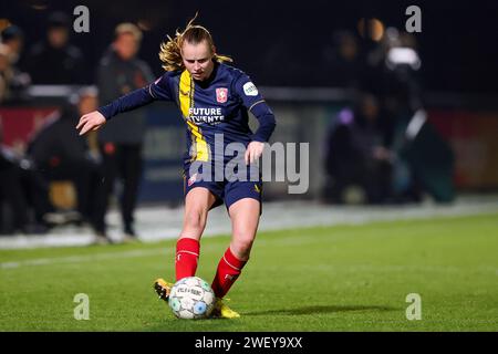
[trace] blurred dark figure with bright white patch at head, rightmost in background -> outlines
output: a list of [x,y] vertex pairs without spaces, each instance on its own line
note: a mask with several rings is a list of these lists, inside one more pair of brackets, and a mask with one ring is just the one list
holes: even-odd
[[388,28],[382,42],[369,53],[367,80],[384,102],[386,145],[393,156],[393,200],[419,201],[423,194],[438,202],[454,199],[454,155],[449,145],[427,122],[422,103],[422,60],[416,38]]

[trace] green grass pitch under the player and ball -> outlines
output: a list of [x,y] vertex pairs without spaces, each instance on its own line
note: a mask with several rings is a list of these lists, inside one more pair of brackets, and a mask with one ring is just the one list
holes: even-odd
[[[211,281],[228,241],[201,241],[197,275]],[[156,298],[174,246],[1,250],[0,331],[498,331],[498,215],[260,232],[228,295],[236,320],[177,320]]]

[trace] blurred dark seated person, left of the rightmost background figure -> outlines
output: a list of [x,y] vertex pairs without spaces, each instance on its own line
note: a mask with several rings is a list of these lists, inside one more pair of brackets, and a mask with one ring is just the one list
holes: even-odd
[[[328,136],[325,196],[332,202],[386,202],[391,195],[392,153],[384,146],[378,100],[362,93],[344,108]],[[351,191],[355,191],[352,200]]]

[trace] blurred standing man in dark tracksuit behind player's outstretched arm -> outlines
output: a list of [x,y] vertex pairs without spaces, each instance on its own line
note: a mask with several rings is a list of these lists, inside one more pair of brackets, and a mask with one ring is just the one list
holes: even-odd
[[[102,58],[97,83],[101,105],[145,86],[154,80],[149,66],[136,58],[142,40],[141,30],[132,23],[116,27],[114,41]],[[116,178],[123,181],[121,212],[125,237],[135,237],[134,210],[142,175],[142,147],[145,137],[145,113],[137,110],[110,121],[98,131],[98,144],[104,163],[104,210],[114,190]]]

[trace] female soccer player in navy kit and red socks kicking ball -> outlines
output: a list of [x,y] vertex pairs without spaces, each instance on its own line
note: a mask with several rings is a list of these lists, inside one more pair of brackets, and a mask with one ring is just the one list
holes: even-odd
[[[239,314],[221,299],[241,273],[255,241],[261,214],[262,183],[253,163],[261,156],[263,143],[270,138],[276,121],[250,79],[225,64],[231,59],[216,53],[209,31],[194,25],[194,20],[183,32],[177,31],[174,39],[168,37],[160,45],[159,58],[166,70],[163,76],[83,115],[76,129],[81,129],[80,135],[96,131],[116,114],[157,100],[174,101],[178,105],[187,127],[188,153],[184,158],[185,215],[176,243],[176,280],[195,275],[208,211],[225,201],[232,237],[211,284],[217,298],[212,315],[238,317]],[[258,118],[256,133],[249,128],[248,111]],[[226,154],[217,156],[220,142],[221,150],[229,144],[238,144],[245,147],[245,154],[239,160]],[[225,173],[221,178],[220,170]],[[229,176],[227,170],[231,171]],[[166,301],[172,285],[163,279],[154,283],[159,298]]]

